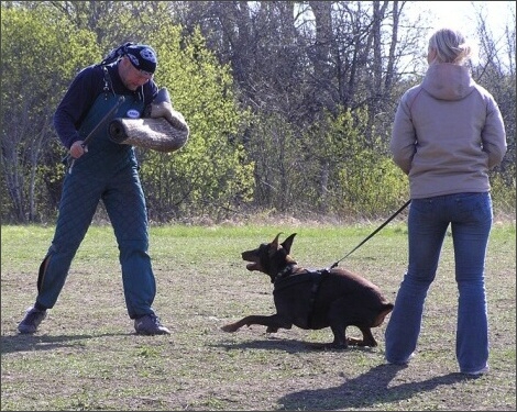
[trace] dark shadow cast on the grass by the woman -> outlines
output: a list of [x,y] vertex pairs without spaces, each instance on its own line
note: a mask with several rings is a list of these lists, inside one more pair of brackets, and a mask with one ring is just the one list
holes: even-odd
[[432,391],[441,385],[453,385],[472,379],[458,372],[388,387],[397,372],[406,367],[384,364],[346,380],[339,387],[306,389],[286,394],[278,399],[278,404],[282,405],[279,410],[329,411],[369,408],[377,403],[404,401],[415,394]]

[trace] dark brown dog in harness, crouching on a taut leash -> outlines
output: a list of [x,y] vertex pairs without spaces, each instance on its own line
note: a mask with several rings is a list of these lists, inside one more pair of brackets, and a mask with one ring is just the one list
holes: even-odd
[[[279,235],[272,243],[242,253],[242,259],[251,261],[248,270],[260,270],[271,277],[276,313],[246,316],[221,329],[237,332],[244,325],[257,324],[274,333],[293,325],[304,330],[330,327],[334,339],[323,347],[377,346],[371,329],[380,326],[393,310],[380,288],[341,268],[304,269],[289,256],[296,233],[282,244],[278,244]],[[348,326],[359,327],[363,338],[346,337]]]

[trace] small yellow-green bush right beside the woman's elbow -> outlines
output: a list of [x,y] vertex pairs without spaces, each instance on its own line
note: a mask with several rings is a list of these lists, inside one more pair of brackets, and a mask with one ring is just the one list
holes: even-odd
[[367,113],[341,109],[326,113],[307,140],[320,136],[316,155],[328,179],[319,202],[326,212],[341,216],[374,216],[407,200],[407,178],[386,157],[385,142],[370,137],[365,145]]

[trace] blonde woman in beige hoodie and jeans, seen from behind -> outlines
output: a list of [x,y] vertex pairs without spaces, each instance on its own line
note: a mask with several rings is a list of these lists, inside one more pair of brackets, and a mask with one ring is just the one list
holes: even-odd
[[485,254],[493,209],[488,170],[506,153],[494,98],[471,77],[471,47],[452,29],[429,40],[424,81],[402,97],[391,151],[409,177],[409,263],[385,332],[386,360],[407,364],[450,225],[459,290],[455,354],[460,371],[488,370]]

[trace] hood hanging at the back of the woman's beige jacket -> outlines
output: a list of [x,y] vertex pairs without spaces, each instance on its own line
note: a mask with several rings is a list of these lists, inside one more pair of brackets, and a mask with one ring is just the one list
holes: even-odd
[[428,67],[421,86],[435,99],[461,100],[474,90],[475,82],[466,66],[435,63]]

